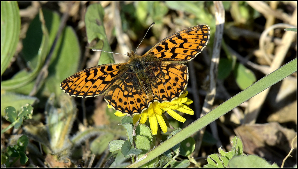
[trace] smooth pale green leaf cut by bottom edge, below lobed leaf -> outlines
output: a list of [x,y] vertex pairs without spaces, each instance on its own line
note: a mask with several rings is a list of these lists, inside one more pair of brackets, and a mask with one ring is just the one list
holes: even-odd
[[268,163],[265,159],[255,155],[248,156],[235,156],[233,157],[228,167],[231,168],[278,168],[278,166],[274,164]]

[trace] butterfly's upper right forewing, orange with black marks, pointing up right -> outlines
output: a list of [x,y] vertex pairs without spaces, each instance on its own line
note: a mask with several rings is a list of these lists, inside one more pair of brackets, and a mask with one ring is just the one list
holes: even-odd
[[163,39],[143,57],[153,55],[160,61],[188,62],[201,53],[209,42],[209,37],[208,25],[190,27]]

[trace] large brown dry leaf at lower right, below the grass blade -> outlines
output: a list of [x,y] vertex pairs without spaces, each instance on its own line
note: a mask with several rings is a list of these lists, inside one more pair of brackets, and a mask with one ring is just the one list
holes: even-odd
[[[266,124],[242,125],[235,130],[243,143],[243,151],[257,154],[268,161],[281,165],[291,150],[292,139],[297,135],[293,129],[284,128],[277,122]],[[297,159],[297,140],[294,142],[292,158],[288,158],[285,167],[293,167]]]

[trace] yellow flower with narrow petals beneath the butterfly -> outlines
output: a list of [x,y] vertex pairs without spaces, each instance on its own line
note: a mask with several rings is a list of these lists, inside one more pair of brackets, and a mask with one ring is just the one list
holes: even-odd
[[[143,111],[142,114],[134,115],[133,120],[134,124],[139,121],[141,124],[144,124],[147,121],[147,117],[149,118],[150,128],[152,130],[152,134],[155,135],[157,133],[157,123],[159,124],[162,132],[167,132],[167,125],[162,118],[162,113],[167,112],[170,116],[174,119],[178,120],[179,122],[185,122],[182,116],[176,113],[174,110],[178,110],[182,113],[193,115],[194,111],[187,107],[184,104],[191,104],[193,101],[185,97],[187,95],[187,91],[183,93],[179,98],[173,100],[172,102],[153,102],[149,105],[149,108]],[[111,107],[111,106],[110,106]],[[117,111],[115,113],[116,116],[125,116],[125,113],[121,113]]]

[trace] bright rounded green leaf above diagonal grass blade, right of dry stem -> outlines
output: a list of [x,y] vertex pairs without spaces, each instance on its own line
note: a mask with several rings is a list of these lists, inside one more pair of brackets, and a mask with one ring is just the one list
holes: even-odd
[[247,87],[249,87],[257,81],[257,78],[254,76],[254,73],[240,63],[236,63],[234,75],[236,78],[236,83],[242,90],[246,89]]

